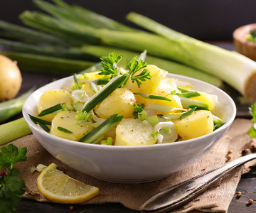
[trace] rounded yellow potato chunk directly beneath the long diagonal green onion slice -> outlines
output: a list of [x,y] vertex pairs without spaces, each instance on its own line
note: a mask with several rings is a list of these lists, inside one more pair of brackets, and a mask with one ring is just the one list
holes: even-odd
[[129,89],[119,88],[95,107],[95,113],[103,119],[107,119],[113,114],[131,118],[135,103],[134,94]]

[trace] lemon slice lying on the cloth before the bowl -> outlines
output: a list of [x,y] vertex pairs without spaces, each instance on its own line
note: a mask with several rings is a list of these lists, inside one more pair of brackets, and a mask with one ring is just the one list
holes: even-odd
[[99,195],[99,189],[94,186],[70,178],[51,163],[43,170],[38,179],[38,189],[48,200],[66,204],[85,202]]

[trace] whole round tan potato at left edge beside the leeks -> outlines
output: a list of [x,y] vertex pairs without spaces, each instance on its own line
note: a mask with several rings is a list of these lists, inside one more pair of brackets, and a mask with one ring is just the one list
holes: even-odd
[[0,102],[13,99],[21,89],[21,71],[16,61],[0,55]]

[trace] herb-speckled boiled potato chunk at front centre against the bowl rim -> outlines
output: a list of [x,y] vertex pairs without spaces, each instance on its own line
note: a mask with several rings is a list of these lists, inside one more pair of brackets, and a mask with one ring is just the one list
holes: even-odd
[[152,138],[154,127],[151,124],[142,124],[139,119],[122,119],[117,124],[115,146],[139,146],[155,144],[157,139]]

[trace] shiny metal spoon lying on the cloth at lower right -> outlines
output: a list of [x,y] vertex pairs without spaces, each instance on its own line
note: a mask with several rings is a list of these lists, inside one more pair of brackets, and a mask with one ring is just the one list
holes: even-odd
[[255,158],[256,153],[245,155],[244,157],[230,161],[225,165],[221,165],[218,168],[210,170],[207,173],[198,175],[191,180],[186,180],[178,185],[169,187],[144,202],[140,210],[142,212],[161,213],[175,209],[176,207],[185,204],[193,197],[196,197],[196,195],[199,195],[201,192],[206,190],[207,187],[212,185],[213,182],[219,180],[231,170],[238,168],[240,165]]

